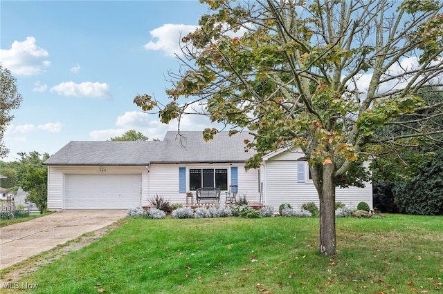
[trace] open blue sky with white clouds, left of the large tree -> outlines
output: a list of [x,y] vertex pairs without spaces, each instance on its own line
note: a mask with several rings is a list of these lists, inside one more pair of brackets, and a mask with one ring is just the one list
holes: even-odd
[[[0,1],[0,63],[23,97],[3,143],[52,155],[69,141],[106,140],[135,129],[163,139],[164,125],[132,103],[138,94],[166,101],[177,72],[179,36],[197,26],[198,1]],[[186,34],[185,34],[186,35]],[[208,121],[187,117],[182,129]]]

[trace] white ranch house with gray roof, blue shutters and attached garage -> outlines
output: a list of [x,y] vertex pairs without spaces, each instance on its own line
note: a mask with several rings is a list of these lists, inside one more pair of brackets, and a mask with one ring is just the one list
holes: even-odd
[[[163,141],[71,141],[44,162],[48,167],[48,209],[129,209],[150,204],[156,195],[186,203],[186,192],[200,187],[221,190],[230,185],[253,203],[282,203],[299,208],[316,202],[307,162],[297,148],[281,149],[263,158],[260,169],[245,170],[253,155],[244,149],[247,133],[228,132],[204,141],[201,132],[168,132]],[[195,201],[195,199],[194,199]],[[336,201],[348,206],[367,202],[372,185],[337,188]]]

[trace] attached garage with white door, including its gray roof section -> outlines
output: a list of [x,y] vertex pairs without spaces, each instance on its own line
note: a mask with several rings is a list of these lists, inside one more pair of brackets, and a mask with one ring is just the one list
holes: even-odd
[[149,145],[147,141],[69,142],[44,163],[48,166],[48,209],[146,205]]

